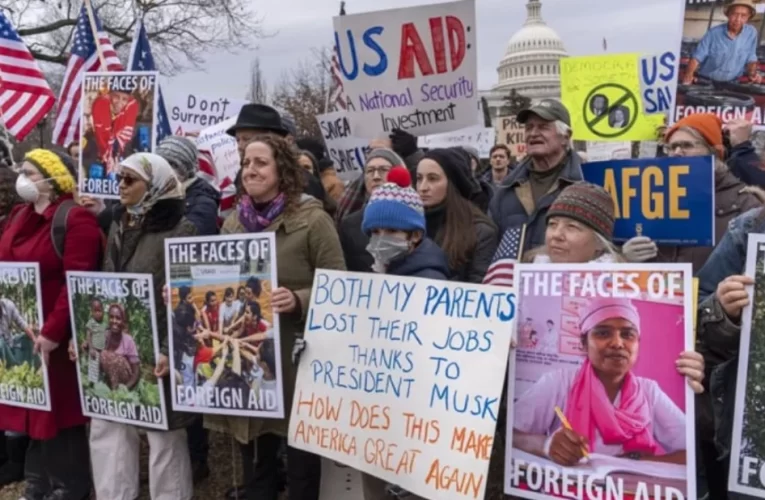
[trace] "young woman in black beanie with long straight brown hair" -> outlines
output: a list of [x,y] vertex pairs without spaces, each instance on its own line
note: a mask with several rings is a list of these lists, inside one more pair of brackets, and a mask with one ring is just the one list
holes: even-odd
[[481,283],[497,249],[497,228],[471,203],[470,164],[455,149],[432,149],[417,165],[428,237],[444,249],[452,279]]

